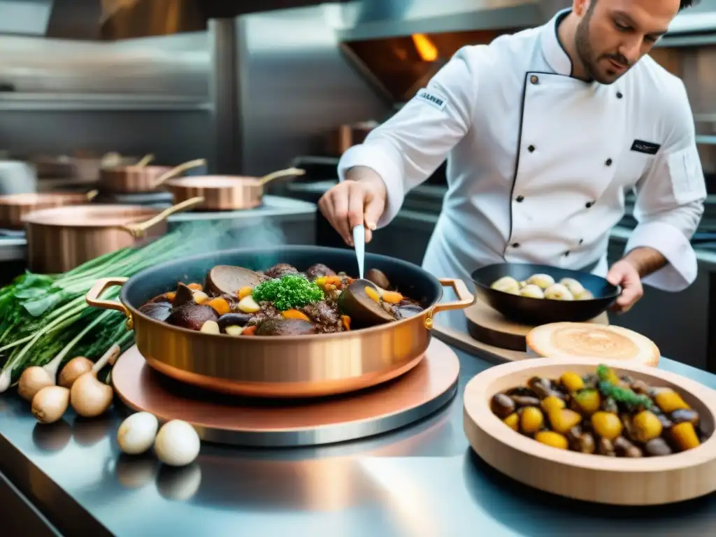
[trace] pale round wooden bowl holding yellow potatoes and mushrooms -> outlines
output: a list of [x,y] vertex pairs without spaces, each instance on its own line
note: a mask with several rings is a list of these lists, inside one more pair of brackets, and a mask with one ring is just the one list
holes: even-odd
[[[521,435],[490,410],[497,392],[524,386],[534,376],[594,372],[606,364],[648,384],[670,387],[699,412],[709,435],[698,448],[664,457],[611,458],[558,450]],[[697,498],[716,490],[716,392],[693,380],[652,367],[599,359],[537,358],[502,364],[476,375],[465,387],[463,427],[485,463],[509,477],[577,500],[613,505],[659,505]]]

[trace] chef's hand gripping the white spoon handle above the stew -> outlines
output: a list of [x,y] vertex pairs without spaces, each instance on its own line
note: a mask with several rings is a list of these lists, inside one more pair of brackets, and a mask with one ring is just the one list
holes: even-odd
[[365,241],[373,238],[378,219],[385,210],[385,183],[370,168],[357,166],[346,173],[346,180],[321,196],[319,209],[347,245],[353,246],[353,228],[365,226]]

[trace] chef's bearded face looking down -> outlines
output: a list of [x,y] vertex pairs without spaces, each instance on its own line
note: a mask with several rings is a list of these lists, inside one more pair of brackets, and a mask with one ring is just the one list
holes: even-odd
[[666,33],[679,0],[574,0],[576,50],[586,74],[616,82]]

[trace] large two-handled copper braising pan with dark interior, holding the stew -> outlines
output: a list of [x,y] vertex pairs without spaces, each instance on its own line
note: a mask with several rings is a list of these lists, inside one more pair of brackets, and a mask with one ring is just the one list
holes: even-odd
[[[407,372],[430,344],[432,317],[474,301],[463,281],[438,280],[412,263],[367,254],[367,268],[382,270],[407,296],[420,299],[425,311],[410,319],[339,334],[231,337],[171,326],[138,310],[145,301],[175,289],[178,281],[203,281],[213,266],[261,270],[275,263],[291,263],[299,270],[326,263],[334,271],[357,272],[355,253],[342,248],[223,251],[165,263],[128,281],[102,279],[87,294],[87,303],[123,311],[147,363],[181,382],[252,397],[315,397],[359,390]],[[117,285],[122,285],[120,302],[99,298],[102,291]],[[443,286],[453,287],[458,301],[438,304]]]

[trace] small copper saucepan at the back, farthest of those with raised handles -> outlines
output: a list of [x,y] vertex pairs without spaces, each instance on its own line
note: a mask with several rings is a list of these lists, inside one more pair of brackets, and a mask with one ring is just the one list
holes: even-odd
[[206,160],[199,158],[170,168],[169,166],[147,166],[151,155],[143,158],[134,166],[121,166],[106,168],[100,172],[100,190],[110,192],[135,193],[151,192],[159,188],[166,180],[184,173],[191,168],[198,168],[206,164]]

